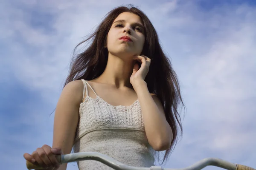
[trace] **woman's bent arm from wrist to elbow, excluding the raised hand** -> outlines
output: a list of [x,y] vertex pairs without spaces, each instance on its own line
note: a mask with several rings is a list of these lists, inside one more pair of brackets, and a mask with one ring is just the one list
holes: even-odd
[[172,142],[172,129],[164,114],[163,106],[156,95],[150,94],[145,81],[134,85],[143,114],[148,143],[154,150],[167,150]]

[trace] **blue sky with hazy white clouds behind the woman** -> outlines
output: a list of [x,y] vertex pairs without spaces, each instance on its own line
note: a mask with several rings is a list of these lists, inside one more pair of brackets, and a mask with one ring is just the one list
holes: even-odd
[[[180,79],[184,134],[166,168],[206,157],[256,167],[256,1],[131,0],[154,24]],[[72,50],[118,0],[5,0],[0,6],[0,164],[52,145]],[[77,170],[69,164],[68,170]],[[207,167],[206,169],[216,169]]]

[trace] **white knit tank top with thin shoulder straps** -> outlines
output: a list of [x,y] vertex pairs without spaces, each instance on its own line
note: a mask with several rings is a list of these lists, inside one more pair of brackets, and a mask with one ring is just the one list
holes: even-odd
[[[113,106],[97,96],[87,81],[82,82],[86,97],[79,108],[74,152],[99,152],[129,166],[154,166],[155,151],[148,144],[139,100],[130,106]],[[88,96],[87,85],[96,99]],[[99,161],[77,164],[79,170],[113,170]]]

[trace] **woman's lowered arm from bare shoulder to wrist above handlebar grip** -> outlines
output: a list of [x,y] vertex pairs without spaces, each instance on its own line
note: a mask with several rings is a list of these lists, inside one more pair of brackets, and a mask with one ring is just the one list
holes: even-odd
[[[56,106],[52,148],[60,147],[64,154],[71,152],[79,119],[79,106],[82,102],[83,83],[80,80],[69,82],[63,89]],[[66,170],[62,164],[58,170]]]

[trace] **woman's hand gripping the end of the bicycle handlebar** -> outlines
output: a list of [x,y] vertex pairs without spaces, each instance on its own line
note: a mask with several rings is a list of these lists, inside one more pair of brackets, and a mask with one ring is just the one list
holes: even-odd
[[63,154],[61,148],[51,148],[47,144],[42,147],[38,147],[32,154],[24,153],[24,158],[35,164],[36,162],[40,167],[49,170],[57,170],[60,167],[60,162],[58,162],[56,155]]

